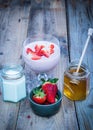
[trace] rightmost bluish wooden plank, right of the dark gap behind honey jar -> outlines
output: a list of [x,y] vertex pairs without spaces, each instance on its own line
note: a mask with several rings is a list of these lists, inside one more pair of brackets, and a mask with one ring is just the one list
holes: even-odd
[[[90,3],[91,2],[91,3]],[[88,36],[93,28],[93,1],[67,1],[70,60],[79,59]],[[90,70],[90,94],[85,101],[75,103],[80,130],[93,129],[93,35],[90,39],[83,62]]]

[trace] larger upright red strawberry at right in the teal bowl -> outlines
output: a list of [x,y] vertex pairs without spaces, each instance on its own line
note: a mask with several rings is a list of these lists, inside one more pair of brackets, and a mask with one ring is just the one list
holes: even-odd
[[58,91],[57,82],[58,79],[49,79],[48,81],[44,82],[42,85],[42,89],[47,95],[47,101],[49,103],[55,103],[56,94]]

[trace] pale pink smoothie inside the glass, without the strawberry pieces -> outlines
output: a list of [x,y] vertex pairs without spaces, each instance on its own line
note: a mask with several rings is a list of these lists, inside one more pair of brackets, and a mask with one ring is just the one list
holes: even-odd
[[47,72],[50,71],[51,69],[53,69],[59,59],[60,59],[60,48],[58,45],[52,43],[54,45],[54,53],[51,54],[48,58],[45,56],[42,56],[41,59],[39,60],[32,60],[31,59],[31,55],[28,55],[26,53],[27,48],[31,48],[32,50],[34,50],[36,44],[38,45],[44,45],[46,49],[48,49],[49,45],[51,44],[48,41],[36,41],[36,42],[32,42],[28,45],[26,45],[23,49],[23,58],[24,61],[26,62],[27,65],[30,66],[30,68],[37,72]]

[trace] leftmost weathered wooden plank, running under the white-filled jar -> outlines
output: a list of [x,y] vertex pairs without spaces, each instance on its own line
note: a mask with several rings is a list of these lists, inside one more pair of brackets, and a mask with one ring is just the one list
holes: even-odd
[[[11,6],[0,9],[0,66],[9,63],[21,64],[22,42],[27,35],[29,5],[21,7],[18,0]],[[3,101],[0,91],[0,129],[15,130],[20,103]]]

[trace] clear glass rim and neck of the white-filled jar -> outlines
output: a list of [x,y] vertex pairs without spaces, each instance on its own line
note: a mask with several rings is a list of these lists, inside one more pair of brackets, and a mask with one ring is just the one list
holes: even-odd
[[21,65],[5,65],[2,69],[1,76],[5,79],[18,79],[23,75]]

